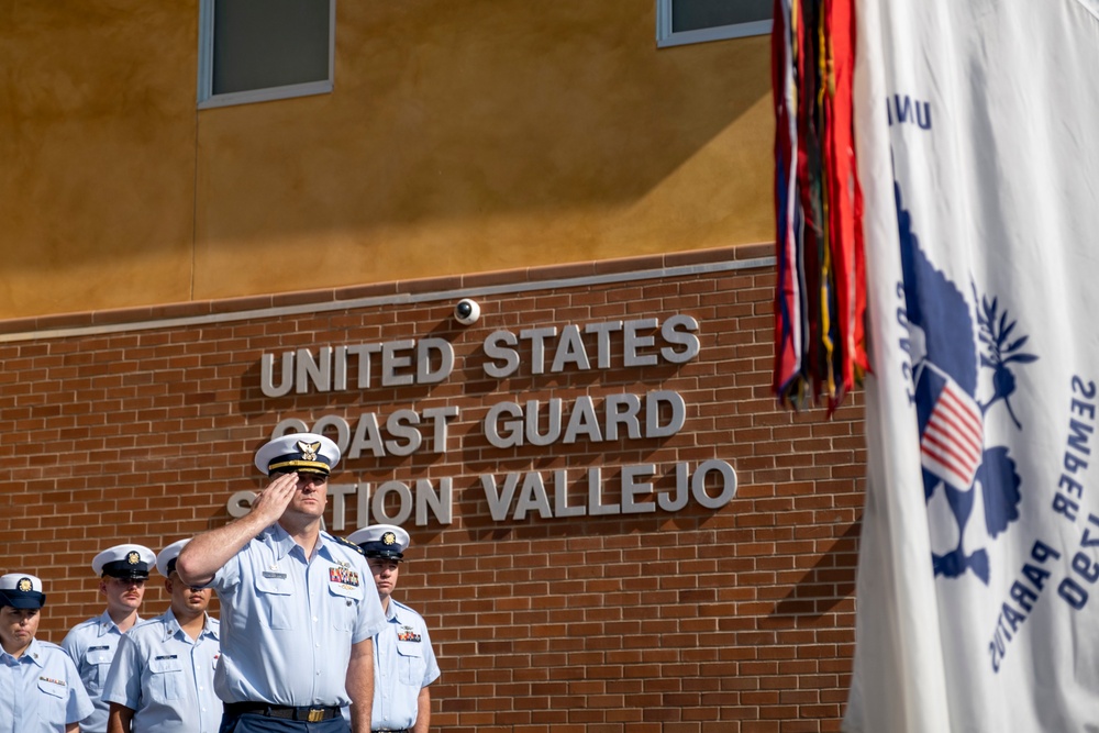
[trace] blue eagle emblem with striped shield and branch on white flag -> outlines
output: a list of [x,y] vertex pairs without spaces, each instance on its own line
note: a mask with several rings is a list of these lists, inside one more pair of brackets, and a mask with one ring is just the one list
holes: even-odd
[[[911,214],[896,188],[901,264],[904,281],[904,315],[909,329],[906,348],[912,359],[912,380],[920,427],[920,465],[924,500],[933,542],[932,565],[936,576],[957,578],[973,571],[988,584],[988,553],[984,546],[966,548],[974,509],[981,508],[984,535],[995,540],[1019,519],[1021,479],[1007,446],[986,445],[989,410],[1002,401],[1015,430],[1021,430],[1010,397],[1015,390],[1011,364],[1037,357],[1022,353],[1026,336],[1012,337],[1015,322],[1000,312],[996,299],[977,296],[975,308],[962,289],[928,258],[912,231]],[[976,311],[976,319],[974,319]],[[976,320],[976,323],[975,323]],[[981,374],[991,379],[981,382]],[[983,384],[991,385],[985,402]],[[945,508],[932,512],[930,504]],[[951,526],[953,524],[953,526]],[[936,545],[934,538],[956,537],[954,546]],[[979,540],[979,541],[983,541]],[[945,549],[945,552],[935,552]]]

